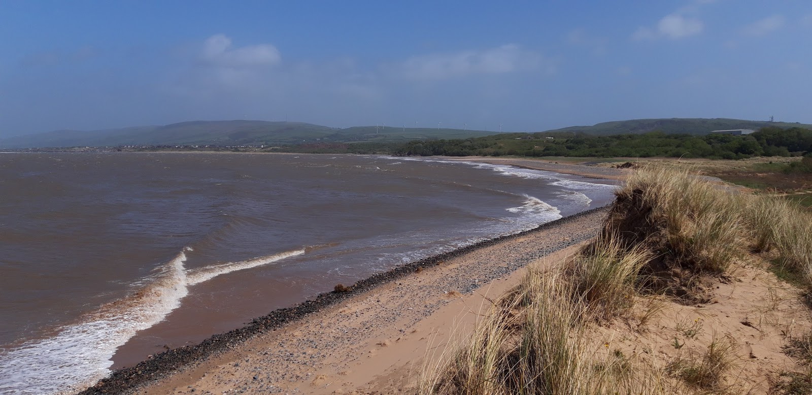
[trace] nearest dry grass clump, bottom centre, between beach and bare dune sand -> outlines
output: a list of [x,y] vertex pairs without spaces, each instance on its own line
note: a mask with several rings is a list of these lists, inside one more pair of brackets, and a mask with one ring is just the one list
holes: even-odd
[[631,306],[633,273],[645,259],[619,250],[598,241],[563,267],[530,268],[462,347],[425,375],[419,393],[680,393],[663,371],[590,341],[590,323]]

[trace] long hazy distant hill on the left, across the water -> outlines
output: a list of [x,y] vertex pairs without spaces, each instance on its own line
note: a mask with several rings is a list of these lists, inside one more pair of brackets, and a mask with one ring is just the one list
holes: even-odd
[[0,140],[0,148],[119,145],[292,145],[304,142],[409,141],[481,137],[494,132],[449,128],[359,126],[330,128],[302,122],[192,121],[94,131],[57,130]]

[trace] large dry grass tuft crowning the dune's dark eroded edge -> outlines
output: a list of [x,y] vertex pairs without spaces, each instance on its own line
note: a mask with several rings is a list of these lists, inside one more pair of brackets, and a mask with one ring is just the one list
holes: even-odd
[[736,199],[714,184],[687,172],[648,169],[635,172],[615,195],[605,232],[616,232],[626,245],[646,245],[693,272],[723,273],[743,253]]

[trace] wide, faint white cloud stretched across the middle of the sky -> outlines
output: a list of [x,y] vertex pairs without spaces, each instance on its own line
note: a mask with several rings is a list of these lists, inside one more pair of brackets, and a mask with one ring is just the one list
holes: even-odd
[[[415,56],[400,64],[400,74],[414,80],[442,80],[471,74],[501,74],[533,70],[542,56],[508,44],[489,50]],[[548,71],[551,71],[548,68]]]

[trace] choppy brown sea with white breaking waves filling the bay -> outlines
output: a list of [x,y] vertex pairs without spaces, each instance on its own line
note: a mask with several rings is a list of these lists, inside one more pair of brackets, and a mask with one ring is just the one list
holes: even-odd
[[614,189],[437,158],[0,153],[0,393],[71,393]]

